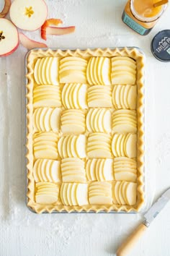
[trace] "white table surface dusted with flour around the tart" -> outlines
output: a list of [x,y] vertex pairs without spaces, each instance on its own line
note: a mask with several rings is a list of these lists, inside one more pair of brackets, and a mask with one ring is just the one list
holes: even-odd
[[[2,7],[2,0],[0,6]],[[76,25],[76,33],[48,37],[50,47],[139,46],[146,53],[146,178],[151,203],[170,185],[170,63],[154,59],[150,45],[169,29],[168,9],[147,36],[122,23],[126,1],[47,0],[48,17]],[[40,32],[27,33],[40,40]],[[37,216],[24,204],[24,54],[0,59],[0,256],[108,256],[142,221],[138,215],[81,214]],[[156,179],[155,179],[156,177]],[[155,193],[154,193],[155,190]],[[130,254],[170,255],[170,203]]]

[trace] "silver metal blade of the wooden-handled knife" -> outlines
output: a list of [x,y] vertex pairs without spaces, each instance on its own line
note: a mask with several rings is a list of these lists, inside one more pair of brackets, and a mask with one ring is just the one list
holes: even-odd
[[165,207],[166,203],[170,200],[170,188],[158,198],[158,200],[151,206],[148,212],[144,215],[146,218],[143,224],[147,227],[150,226],[151,222],[158,216],[158,213]]

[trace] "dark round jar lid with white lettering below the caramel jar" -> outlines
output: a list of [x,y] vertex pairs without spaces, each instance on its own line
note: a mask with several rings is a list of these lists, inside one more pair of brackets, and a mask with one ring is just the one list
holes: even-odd
[[162,30],[151,42],[153,56],[159,61],[170,61],[170,30]]

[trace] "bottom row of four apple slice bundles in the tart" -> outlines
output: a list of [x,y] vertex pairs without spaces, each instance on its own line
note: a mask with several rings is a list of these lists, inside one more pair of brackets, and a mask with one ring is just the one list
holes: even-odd
[[[58,184],[39,182],[36,184],[35,201],[39,204],[58,202]],[[61,201],[63,205],[135,205],[137,184],[134,182],[92,182],[89,184],[61,184]]]

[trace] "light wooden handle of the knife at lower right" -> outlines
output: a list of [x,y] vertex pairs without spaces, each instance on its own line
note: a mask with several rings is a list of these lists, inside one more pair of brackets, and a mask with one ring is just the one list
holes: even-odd
[[146,231],[147,226],[145,226],[143,223],[138,226],[135,231],[128,237],[128,239],[125,240],[125,242],[122,243],[120,248],[117,250],[117,256],[126,256],[130,252],[131,249],[135,246],[135,244],[138,242],[138,239],[143,235],[143,233]]

